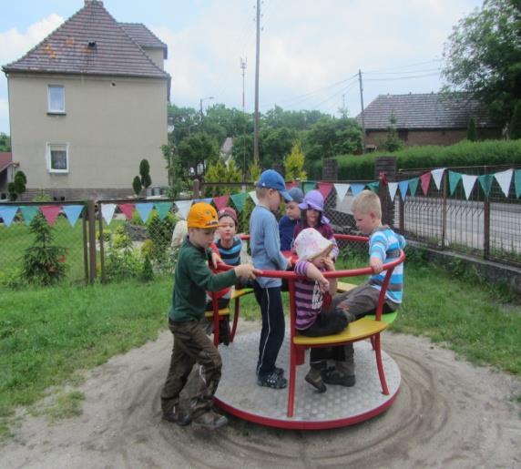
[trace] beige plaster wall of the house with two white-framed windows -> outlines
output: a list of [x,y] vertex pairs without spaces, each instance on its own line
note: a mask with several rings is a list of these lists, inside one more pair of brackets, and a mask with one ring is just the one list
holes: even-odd
[[[66,115],[47,115],[47,85],[65,87]],[[139,161],[152,185],[166,185],[167,81],[92,76],[8,76],[13,160],[31,189],[130,191]],[[69,171],[50,173],[46,143],[68,144]]]

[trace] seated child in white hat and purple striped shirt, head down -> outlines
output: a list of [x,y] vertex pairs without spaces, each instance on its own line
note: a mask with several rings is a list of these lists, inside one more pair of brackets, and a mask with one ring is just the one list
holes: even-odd
[[[306,277],[295,280],[295,307],[297,311],[296,328],[309,337],[336,334],[343,331],[355,320],[349,311],[335,308],[330,311],[332,295],[337,287],[337,280],[327,280],[324,271],[334,270],[334,262],[329,256],[333,243],[326,240],[316,229],[303,229],[294,241],[294,248],[299,260],[295,273]],[[312,348],[311,369],[305,377],[306,382],[319,392],[327,388],[324,382],[352,386],[354,376],[350,370],[352,352],[346,355],[346,346],[337,345],[329,348]],[[334,363],[328,370],[327,361]]]

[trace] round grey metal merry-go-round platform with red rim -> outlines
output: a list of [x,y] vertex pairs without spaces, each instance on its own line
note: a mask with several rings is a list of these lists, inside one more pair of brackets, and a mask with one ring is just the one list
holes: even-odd
[[[372,344],[354,343],[356,384],[352,387],[327,385],[326,393],[317,393],[304,381],[309,370],[309,351],[305,363],[297,366],[295,403],[292,417],[287,416],[288,388],[260,387],[255,375],[260,332],[238,334],[228,347],[220,345],[222,377],[215,403],[225,412],[262,425],[300,430],[336,428],[371,419],[393,403],[401,382],[398,365],[382,351],[383,368],[389,394],[382,392]],[[289,334],[281,347],[277,366],[289,373]]]

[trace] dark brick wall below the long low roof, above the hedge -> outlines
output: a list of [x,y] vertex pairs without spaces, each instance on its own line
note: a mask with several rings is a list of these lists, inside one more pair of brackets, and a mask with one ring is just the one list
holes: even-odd
[[[399,130],[399,134],[403,131]],[[407,130],[406,147],[416,147],[420,145],[453,145],[466,138],[466,128],[463,129],[435,129],[435,130]],[[501,138],[501,130],[495,128],[478,128],[479,139],[488,140]],[[383,141],[387,138],[386,130],[367,130],[365,145],[376,145],[382,147]]]

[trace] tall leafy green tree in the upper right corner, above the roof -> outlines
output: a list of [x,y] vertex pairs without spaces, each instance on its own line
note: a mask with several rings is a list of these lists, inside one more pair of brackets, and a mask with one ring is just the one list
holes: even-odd
[[443,75],[455,91],[467,91],[506,124],[521,99],[521,3],[485,0],[461,19],[444,46]]

